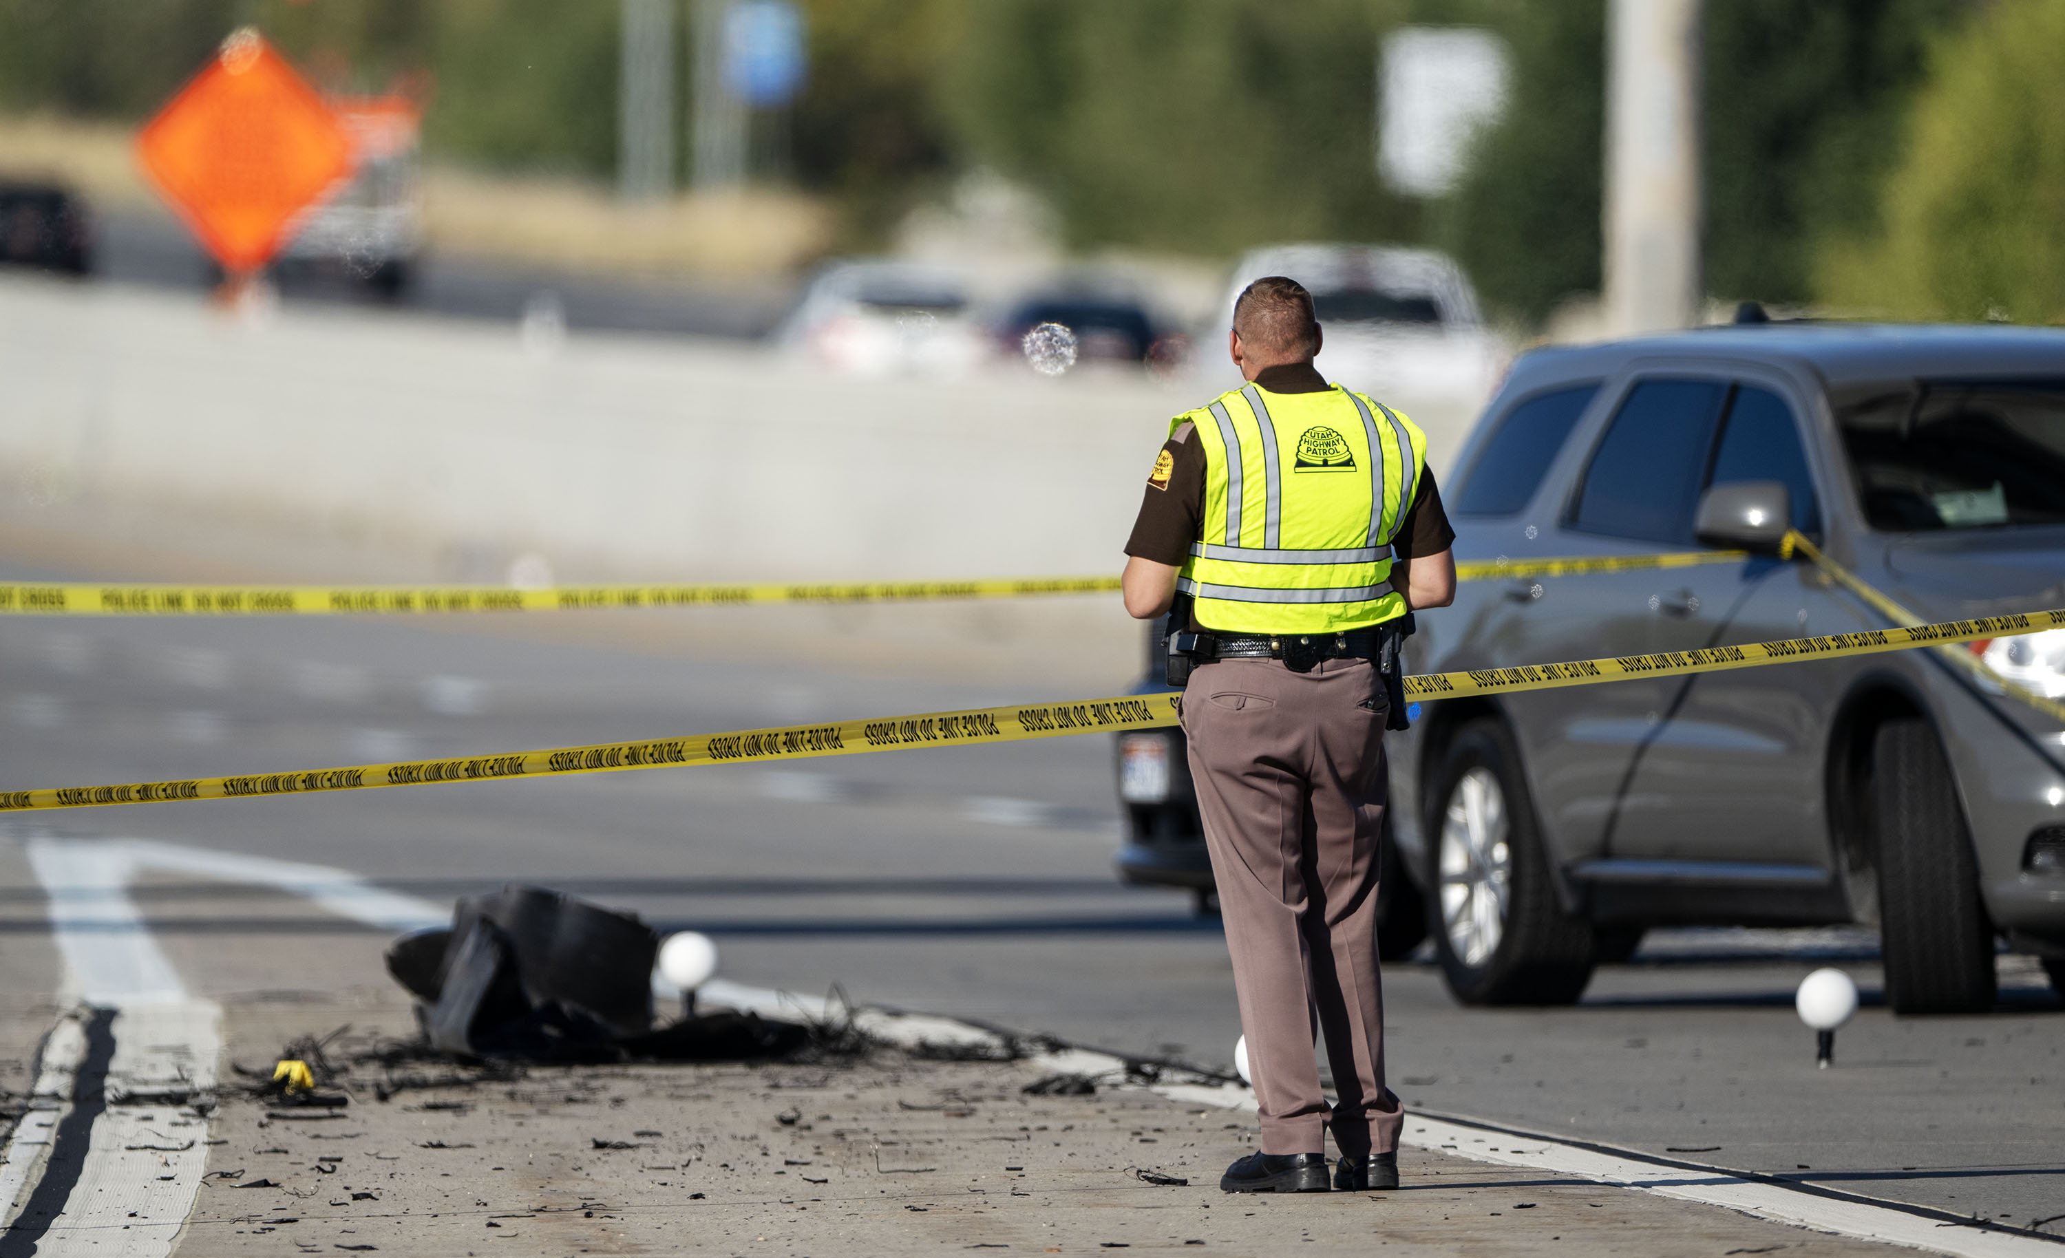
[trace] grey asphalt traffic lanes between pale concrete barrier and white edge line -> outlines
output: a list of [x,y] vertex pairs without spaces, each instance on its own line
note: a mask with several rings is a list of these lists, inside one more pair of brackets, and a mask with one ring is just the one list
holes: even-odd
[[[14,566],[8,578],[64,572]],[[584,616],[0,624],[0,787],[264,773],[1068,694],[750,663],[690,632],[595,644]],[[1119,886],[1109,740],[12,818],[4,989],[60,975],[23,847],[151,839],[308,861],[448,901],[533,882],[717,938],[723,977],[1196,1062],[1239,1033],[1218,925]],[[198,996],[382,983],[378,936],[308,901],[155,876]],[[1867,1006],[1813,1068],[1790,994],[1838,963]],[[2003,958],[1989,1016],[1892,1018],[1865,932],[1658,932],[1565,1010],[1462,1010],[1386,973],[1408,1105],[2013,1225],[2065,1215],[2065,1018]]]

